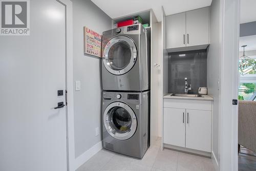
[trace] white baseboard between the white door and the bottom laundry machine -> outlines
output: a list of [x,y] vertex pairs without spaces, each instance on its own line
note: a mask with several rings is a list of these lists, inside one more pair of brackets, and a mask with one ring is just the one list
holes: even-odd
[[88,149],[86,152],[81,154],[75,159],[75,170],[79,168],[83,163],[85,163],[87,160],[89,160],[93,155],[98,153],[102,149],[102,141],[98,142],[94,146],[92,146],[90,149]]

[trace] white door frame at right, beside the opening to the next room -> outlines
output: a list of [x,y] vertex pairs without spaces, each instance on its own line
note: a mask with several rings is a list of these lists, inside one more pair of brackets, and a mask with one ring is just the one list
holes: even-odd
[[221,95],[219,170],[238,170],[238,57],[240,0],[220,0],[221,19]]

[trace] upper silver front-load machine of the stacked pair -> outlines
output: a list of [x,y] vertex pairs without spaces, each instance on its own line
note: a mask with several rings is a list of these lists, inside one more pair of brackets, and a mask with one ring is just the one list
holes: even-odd
[[103,90],[150,90],[148,54],[146,30],[141,24],[103,32]]

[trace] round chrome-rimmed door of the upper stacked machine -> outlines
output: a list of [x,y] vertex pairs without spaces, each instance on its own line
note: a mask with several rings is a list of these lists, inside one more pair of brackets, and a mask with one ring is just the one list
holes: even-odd
[[103,51],[105,68],[114,75],[129,72],[136,62],[137,48],[134,41],[127,36],[113,37]]

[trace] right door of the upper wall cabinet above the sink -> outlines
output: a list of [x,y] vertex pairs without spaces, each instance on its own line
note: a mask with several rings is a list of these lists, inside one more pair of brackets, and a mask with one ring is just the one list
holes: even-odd
[[186,12],[187,46],[209,44],[209,7]]

